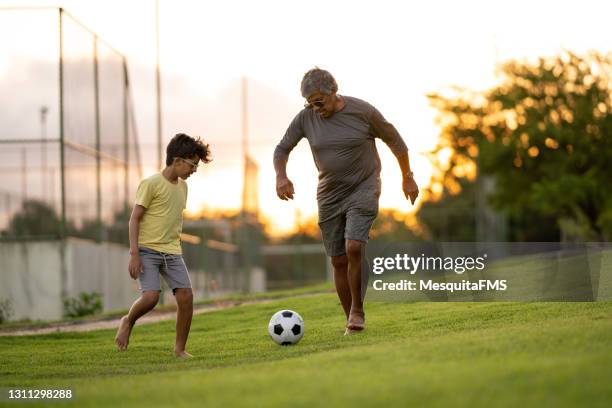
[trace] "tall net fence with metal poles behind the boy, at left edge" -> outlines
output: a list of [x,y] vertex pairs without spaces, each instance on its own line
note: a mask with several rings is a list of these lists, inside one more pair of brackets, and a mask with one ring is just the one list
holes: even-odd
[[127,242],[142,173],[125,57],[57,8],[0,9],[0,34],[2,237]]

